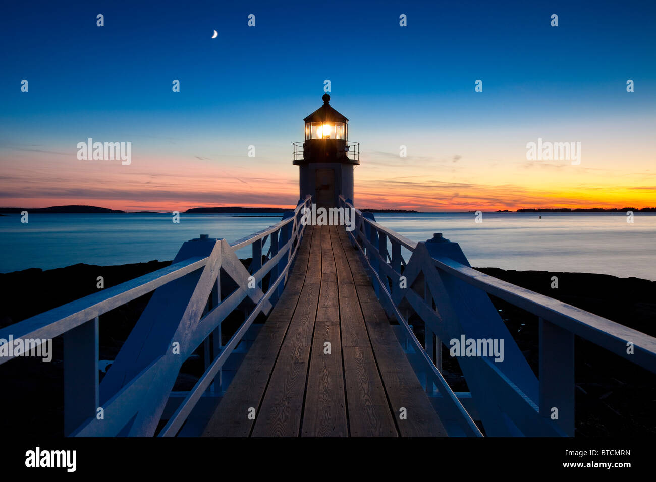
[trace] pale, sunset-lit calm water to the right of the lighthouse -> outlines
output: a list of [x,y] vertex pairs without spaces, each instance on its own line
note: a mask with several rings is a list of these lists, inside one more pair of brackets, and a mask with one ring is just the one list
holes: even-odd
[[[656,213],[375,214],[376,220],[413,239],[433,233],[459,243],[476,268],[574,271],[656,281]],[[540,219],[539,216],[542,216]],[[404,256],[405,257],[405,256]]]

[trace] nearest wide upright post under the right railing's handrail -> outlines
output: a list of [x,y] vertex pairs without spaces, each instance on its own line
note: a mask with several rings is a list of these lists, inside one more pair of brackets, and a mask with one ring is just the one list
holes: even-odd
[[540,415],[573,437],[574,334],[542,318],[539,323]]

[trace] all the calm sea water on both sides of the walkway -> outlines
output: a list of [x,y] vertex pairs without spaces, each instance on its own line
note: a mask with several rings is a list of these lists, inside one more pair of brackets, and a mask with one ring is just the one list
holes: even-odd
[[[124,264],[171,260],[183,241],[209,234],[236,241],[280,216],[262,214],[30,214],[0,217],[0,272],[60,268],[75,263]],[[581,271],[656,281],[656,213],[375,214],[415,241],[433,233],[460,244],[472,266]],[[542,216],[540,219],[539,216]],[[248,250],[239,253],[250,256]]]

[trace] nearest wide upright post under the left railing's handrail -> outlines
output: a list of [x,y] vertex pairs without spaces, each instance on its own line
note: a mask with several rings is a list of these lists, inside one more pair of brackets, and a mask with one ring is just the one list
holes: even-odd
[[98,409],[98,317],[64,336],[64,435]]

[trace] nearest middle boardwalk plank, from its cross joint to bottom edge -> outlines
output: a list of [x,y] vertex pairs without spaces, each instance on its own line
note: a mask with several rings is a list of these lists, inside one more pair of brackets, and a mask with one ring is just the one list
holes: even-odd
[[[325,342],[331,353],[325,353]],[[339,325],[317,321],[305,399],[303,437],[346,437],[346,399]]]

